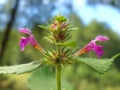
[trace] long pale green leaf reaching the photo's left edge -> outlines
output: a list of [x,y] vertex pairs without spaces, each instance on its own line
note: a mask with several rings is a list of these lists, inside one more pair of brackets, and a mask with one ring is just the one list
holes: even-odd
[[39,66],[41,66],[41,64],[41,61],[34,61],[27,64],[15,66],[4,66],[0,67],[0,74],[22,74],[38,68]]

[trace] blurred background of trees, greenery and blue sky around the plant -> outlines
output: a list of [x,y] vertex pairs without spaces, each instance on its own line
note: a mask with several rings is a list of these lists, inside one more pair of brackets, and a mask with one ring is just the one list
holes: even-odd
[[[49,49],[43,39],[46,31],[38,25],[44,25],[59,13],[78,27],[71,33],[78,49],[101,34],[110,38],[103,44],[102,58],[120,53],[120,0],[0,0],[0,65],[39,60],[40,53],[30,45],[20,52],[18,28],[31,29],[41,46]],[[86,56],[97,58],[94,52],[82,55]],[[29,90],[29,75],[1,75],[0,90]],[[63,70],[62,76],[73,85],[73,90],[120,90],[120,57],[104,75],[84,64],[74,64]]]

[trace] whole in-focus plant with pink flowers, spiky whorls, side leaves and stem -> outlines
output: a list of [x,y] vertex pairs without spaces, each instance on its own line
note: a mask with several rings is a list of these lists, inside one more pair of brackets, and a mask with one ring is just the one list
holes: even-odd
[[[109,40],[108,37],[102,35],[98,35],[83,48],[75,51],[76,42],[72,41],[71,36],[69,35],[70,31],[74,31],[74,26],[64,16],[54,16],[52,22],[49,25],[40,27],[49,32],[49,34],[45,36],[45,39],[52,44],[52,50],[45,50],[42,48],[42,46],[37,42],[34,35],[29,29],[20,28],[19,32],[26,35],[26,37],[21,37],[20,39],[20,50],[24,51],[25,47],[30,44],[39,50],[44,58],[28,64],[0,67],[0,74],[22,74],[37,69],[43,64],[49,63],[56,69],[57,90],[61,90],[62,67],[72,65],[74,62],[83,62],[101,74],[109,69],[110,65],[113,62],[113,59],[115,58],[100,59],[100,57],[104,54],[103,46],[96,44],[96,42],[105,42]],[[91,57],[80,57],[81,54],[90,51],[94,51],[97,54],[98,60]]]

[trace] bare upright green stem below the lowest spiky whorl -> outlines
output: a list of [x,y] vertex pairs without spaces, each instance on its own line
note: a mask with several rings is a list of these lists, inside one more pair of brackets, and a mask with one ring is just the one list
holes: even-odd
[[61,90],[61,65],[56,66],[57,90]]

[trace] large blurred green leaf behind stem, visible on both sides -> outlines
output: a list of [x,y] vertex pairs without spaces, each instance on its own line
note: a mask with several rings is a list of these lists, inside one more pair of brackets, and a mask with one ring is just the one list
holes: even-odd
[[[61,90],[73,90],[71,84],[67,81],[61,81]],[[50,68],[50,66],[44,66],[36,69],[28,80],[28,87],[30,90],[57,90],[56,77],[53,68]]]

